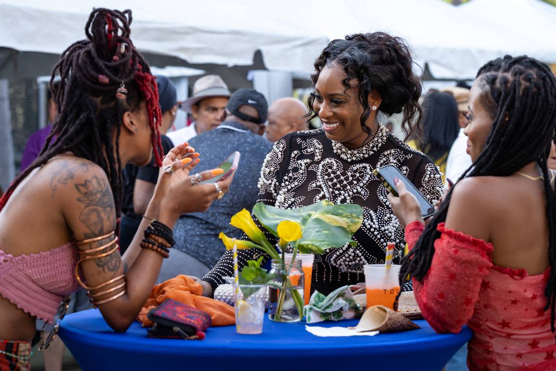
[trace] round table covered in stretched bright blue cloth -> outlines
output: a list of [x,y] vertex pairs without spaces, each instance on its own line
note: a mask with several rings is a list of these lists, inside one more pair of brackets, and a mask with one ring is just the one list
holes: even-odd
[[[355,326],[358,320],[321,322],[316,326]],[[81,368],[87,370],[438,370],[471,339],[436,334],[424,320],[421,329],[373,337],[320,338],[305,322],[276,323],[266,318],[260,335],[236,334],[235,326],[211,327],[204,340],[151,339],[140,323],[115,333],[100,311],[66,316],[59,336]],[[254,363],[251,363],[254,362]]]

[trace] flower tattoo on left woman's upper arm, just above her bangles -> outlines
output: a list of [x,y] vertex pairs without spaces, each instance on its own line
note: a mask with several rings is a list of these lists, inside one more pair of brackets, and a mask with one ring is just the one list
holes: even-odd
[[[116,210],[110,186],[106,184],[106,180],[95,175],[83,184],[76,184],[75,187],[81,194],[77,201],[85,204],[79,220],[91,230],[91,233],[83,234],[85,238],[101,236],[113,230],[112,226],[116,225]],[[111,229],[106,230],[106,226],[110,226]]]

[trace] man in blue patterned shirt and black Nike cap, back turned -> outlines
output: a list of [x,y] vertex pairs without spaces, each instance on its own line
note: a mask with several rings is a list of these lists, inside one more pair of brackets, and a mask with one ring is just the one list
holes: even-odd
[[226,121],[189,141],[201,154],[195,172],[218,167],[234,151],[239,151],[241,158],[223,199],[215,200],[205,212],[183,214],[178,219],[173,230],[176,245],[170,258],[162,263],[158,282],[178,274],[202,277],[226,250],[218,238],[220,232],[232,238],[241,237],[242,231],[230,225],[230,218],[241,209],[251,211],[257,200],[262,162],[272,149],[272,144],[262,137],[267,110],[261,93],[237,90],[226,107]]

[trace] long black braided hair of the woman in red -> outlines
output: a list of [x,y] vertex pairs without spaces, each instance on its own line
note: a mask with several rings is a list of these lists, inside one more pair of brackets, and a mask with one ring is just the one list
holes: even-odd
[[[492,118],[492,129],[479,157],[460,177],[509,176],[536,162],[544,176],[549,227],[550,276],[545,295],[554,332],[556,309],[556,199],[548,170],[550,145],[556,131],[556,77],[545,63],[527,56],[505,56],[486,63],[477,73],[480,101]],[[415,247],[401,261],[400,281],[408,274],[423,280],[434,256],[436,227],[446,220],[453,188],[425,227]]]

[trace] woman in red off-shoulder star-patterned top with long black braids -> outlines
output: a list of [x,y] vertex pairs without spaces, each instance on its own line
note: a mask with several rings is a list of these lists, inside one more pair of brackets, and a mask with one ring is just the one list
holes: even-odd
[[438,332],[473,330],[474,370],[556,370],[556,200],[547,159],[556,77],[527,56],[480,68],[469,93],[471,166],[427,226],[403,183],[389,195],[423,316]]

